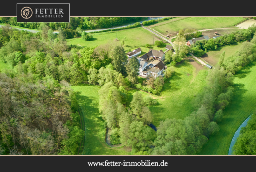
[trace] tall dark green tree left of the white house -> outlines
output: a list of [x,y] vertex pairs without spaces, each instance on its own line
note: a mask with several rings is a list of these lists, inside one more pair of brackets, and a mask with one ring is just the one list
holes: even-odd
[[122,47],[121,45],[115,46],[112,51],[111,58],[112,58],[112,64],[113,64],[114,70],[125,75],[126,74],[125,65],[127,63],[127,57],[126,57],[124,47]]

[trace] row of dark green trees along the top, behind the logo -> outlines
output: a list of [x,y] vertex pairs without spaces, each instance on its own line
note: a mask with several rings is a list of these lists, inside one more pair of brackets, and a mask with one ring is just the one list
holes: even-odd
[[[146,17],[70,17],[69,23],[52,22],[46,23],[46,25],[53,30],[57,30],[59,27],[71,30],[76,30],[77,28],[88,30],[111,28],[129,22],[139,22],[145,19]],[[16,17],[0,17],[0,22],[31,29],[39,29],[40,27],[40,23],[17,23]]]

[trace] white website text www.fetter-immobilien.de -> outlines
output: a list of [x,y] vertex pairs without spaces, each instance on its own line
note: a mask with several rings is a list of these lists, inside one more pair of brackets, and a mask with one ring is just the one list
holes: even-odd
[[141,160],[141,162],[88,162],[89,166],[168,166],[168,163],[163,160],[163,162],[150,162],[150,160]]

